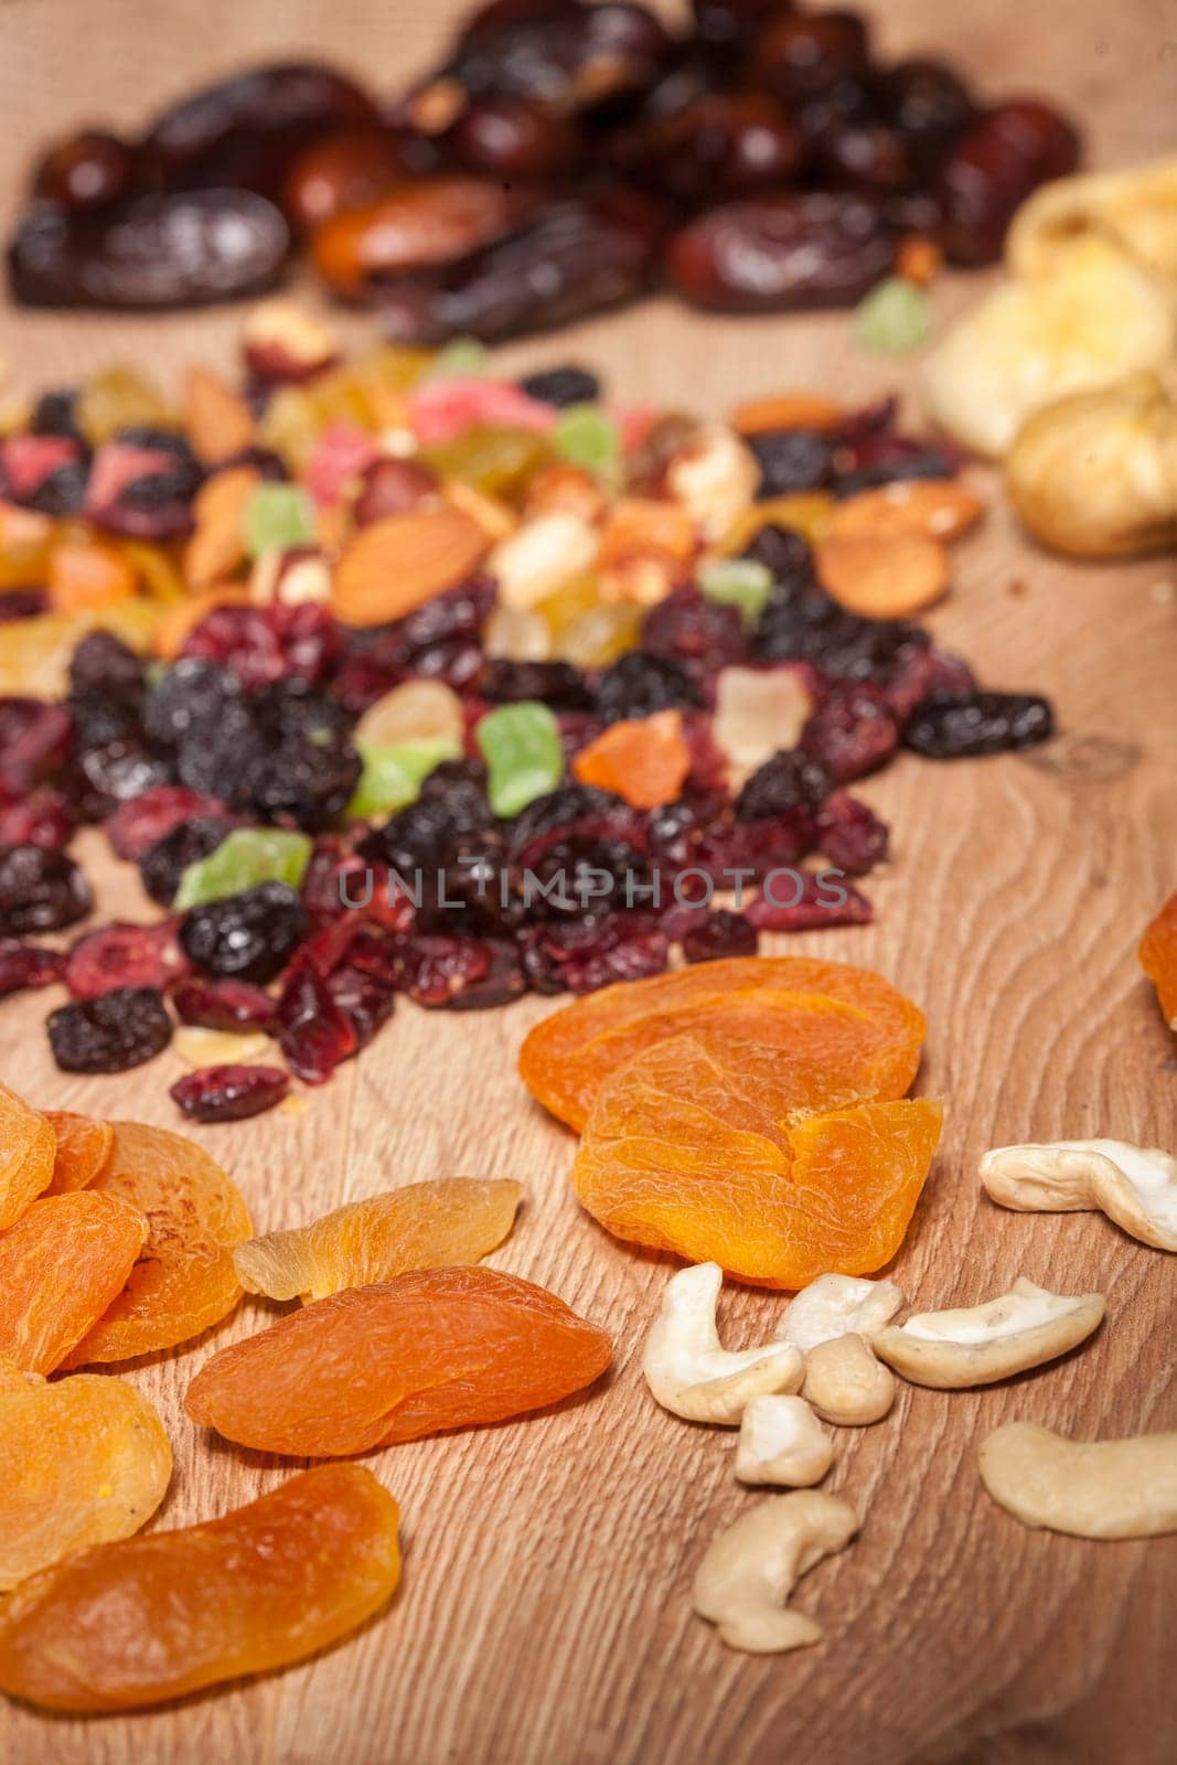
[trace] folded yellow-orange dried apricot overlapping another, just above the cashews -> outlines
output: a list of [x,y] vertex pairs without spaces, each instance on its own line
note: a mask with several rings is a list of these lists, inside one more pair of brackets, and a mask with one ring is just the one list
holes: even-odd
[[602,1084],[572,1183],[614,1237],[741,1281],[866,1274],[903,1241],[942,1110],[859,1098],[776,1048],[674,1036]]

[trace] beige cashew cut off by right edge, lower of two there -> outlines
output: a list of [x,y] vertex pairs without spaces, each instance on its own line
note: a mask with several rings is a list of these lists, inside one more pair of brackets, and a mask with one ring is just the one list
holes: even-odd
[[1025,1527],[1082,1539],[1177,1532],[1177,1433],[1068,1440],[1006,1423],[981,1440],[981,1483]]

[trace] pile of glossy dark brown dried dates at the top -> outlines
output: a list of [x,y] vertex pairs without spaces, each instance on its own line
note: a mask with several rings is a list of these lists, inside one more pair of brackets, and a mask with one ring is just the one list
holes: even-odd
[[903,244],[999,256],[1078,136],[1034,99],[981,104],[935,60],[882,64],[858,12],[693,0],[491,0],[381,102],[318,64],[192,94],[139,139],[44,155],[9,245],[32,305],[184,307],[326,284],[436,344],[561,325],[669,282],[729,312],[856,302]]

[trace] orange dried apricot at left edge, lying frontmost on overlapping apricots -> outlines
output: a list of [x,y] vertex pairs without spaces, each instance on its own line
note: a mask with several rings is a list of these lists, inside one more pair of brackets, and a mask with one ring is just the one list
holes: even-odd
[[0,1232],[0,1356],[51,1373],[124,1290],[146,1218],[118,1195],[46,1195]]

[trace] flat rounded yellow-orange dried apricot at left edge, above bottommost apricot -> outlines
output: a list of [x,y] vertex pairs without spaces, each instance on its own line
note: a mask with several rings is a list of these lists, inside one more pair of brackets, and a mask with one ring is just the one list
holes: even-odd
[[0,1590],[131,1537],[169,1479],[164,1424],[134,1386],[99,1373],[46,1384],[0,1359]]

